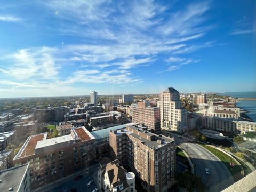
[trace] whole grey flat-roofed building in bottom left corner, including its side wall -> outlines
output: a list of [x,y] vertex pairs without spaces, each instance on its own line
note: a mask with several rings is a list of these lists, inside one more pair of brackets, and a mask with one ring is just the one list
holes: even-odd
[[0,171],[0,180],[1,191],[31,191],[29,164],[26,163],[20,166]]

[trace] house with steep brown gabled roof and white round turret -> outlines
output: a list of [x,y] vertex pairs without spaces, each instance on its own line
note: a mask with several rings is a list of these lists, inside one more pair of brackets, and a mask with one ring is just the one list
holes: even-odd
[[98,178],[102,191],[135,191],[135,174],[127,172],[117,159],[100,166]]

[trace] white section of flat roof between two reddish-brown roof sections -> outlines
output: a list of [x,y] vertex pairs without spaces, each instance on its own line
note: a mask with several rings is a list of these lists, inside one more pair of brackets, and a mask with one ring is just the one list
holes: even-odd
[[44,139],[44,140],[37,142],[35,149],[49,147],[52,145],[65,143],[65,142],[72,141],[72,140],[73,140],[73,137],[71,134],[63,135],[61,137],[56,137],[56,138],[51,138],[51,139]]

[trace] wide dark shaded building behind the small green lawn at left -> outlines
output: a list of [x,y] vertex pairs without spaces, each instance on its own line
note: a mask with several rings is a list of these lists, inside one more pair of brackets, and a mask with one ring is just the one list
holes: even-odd
[[42,122],[61,122],[64,121],[64,115],[69,112],[68,107],[54,107],[50,109],[36,109],[34,111],[35,120]]

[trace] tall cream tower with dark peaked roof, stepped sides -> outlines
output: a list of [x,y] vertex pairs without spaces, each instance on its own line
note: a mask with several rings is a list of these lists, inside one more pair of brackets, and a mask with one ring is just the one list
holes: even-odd
[[187,109],[182,109],[180,93],[173,87],[159,93],[157,106],[160,108],[161,128],[181,133],[187,129]]

